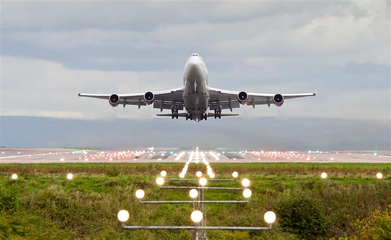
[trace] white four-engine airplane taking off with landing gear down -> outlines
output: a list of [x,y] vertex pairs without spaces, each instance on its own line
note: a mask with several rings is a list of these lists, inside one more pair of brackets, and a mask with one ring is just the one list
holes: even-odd
[[[141,106],[153,104],[153,108],[171,109],[171,113],[157,114],[157,116],[168,116],[172,119],[186,117],[186,120],[199,122],[207,120],[208,117],[221,118],[222,116],[237,116],[239,114],[222,113],[222,109],[239,108],[240,105],[274,104],[281,107],[285,99],[315,96],[314,93],[300,94],[265,94],[250,93],[245,91],[230,91],[209,87],[209,76],[205,62],[197,53],[193,53],[187,60],[183,73],[183,87],[164,91],[147,91],[145,93],[130,94],[87,94],[79,93],[79,97],[92,97],[109,100],[112,107],[118,105]],[[179,112],[183,111],[184,112]],[[209,110],[214,111],[209,112]]]

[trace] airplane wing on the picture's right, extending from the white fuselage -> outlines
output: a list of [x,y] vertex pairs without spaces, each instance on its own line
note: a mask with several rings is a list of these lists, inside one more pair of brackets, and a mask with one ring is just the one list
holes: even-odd
[[[240,107],[238,100],[239,91],[230,91],[223,90],[218,88],[209,87],[209,108],[211,110],[217,109],[218,104],[221,109],[236,109]],[[273,97],[275,94],[268,93],[251,93],[247,92],[248,102],[246,105],[252,105],[255,108],[255,105],[268,105],[273,104]],[[308,97],[315,96],[316,91],[314,93],[298,93],[298,94],[281,94],[283,99],[291,99],[291,98],[299,98],[299,97]]]

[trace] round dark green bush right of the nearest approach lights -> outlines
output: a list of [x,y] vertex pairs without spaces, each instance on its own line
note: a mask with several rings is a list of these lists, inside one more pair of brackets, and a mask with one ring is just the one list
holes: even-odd
[[317,202],[306,197],[291,197],[278,206],[279,225],[286,232],[305,239],[322,235],[327,230],[324,214]]

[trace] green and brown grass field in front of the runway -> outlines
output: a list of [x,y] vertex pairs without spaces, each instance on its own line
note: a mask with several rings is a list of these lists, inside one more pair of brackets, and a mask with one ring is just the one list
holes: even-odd
[[[210,231],[211,240],[354,236],[365,239],[357,221],[371,217],[376,209],[384,213],[391,207],[391,164],[212,163],[211,166],[216,178],[230,178],[233,171],[239,172],[239,179],[249,178],[253,195],[248,204],[207,205],[208,226],[265,226],[263,214],[268,210],[277,214],[272,231]],[[134,196],[141,188],[146,192],[146,200],[189,200],[186,190],[163,190],[155,184],[161,170],[167,171],[166,178],[176,178],[182,168],[183,164],[177,163],[1,164],[0,239],[189,239],[189,231],[123,230],[116,218],[118,210],[127,209],[130,225],[191,225],[190,204],[144,205]],[[205,166],[191,164],[188,176],[198,170],[205,171]],[[329,177],[321,179],[322,172]],[[384,178],[376,179],[377,172],[383,173]],[[10,178],[13,173],[19,175],[17,180]],[[73,173],[75,178],[67,180],[67,173]],[[240,187],[240,182],[209,182],[208,186]],[[205,190],[205,199],[243,198],[241,191]],[[286,206],[292,203],[296,206],[303,199],[314,203],[316,208],[308,210],[305,208],[308,204],[301,205],[309,216],[304,216],[301,223],[320,224],[317,232],[295,232],[286,227],[286,218],[280,218],[286,216]],[[315,221],[310,221],[313,216]],[[385,220],[386,225],[391,224],[387,216]],[[383,239],[388,238],[387,231],[386,226]]]

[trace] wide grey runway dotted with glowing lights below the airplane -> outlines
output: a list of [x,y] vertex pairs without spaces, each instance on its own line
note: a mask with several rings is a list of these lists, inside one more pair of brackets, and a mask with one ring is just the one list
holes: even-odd
[[[192,154],[193,152],[193,154]],[[120,149],[120,150],[75,150],[38,148],[1,148],[1,163],[147,163],[202,162],[203,154],[208,162],[273,163],[273,162],[318,162],[318,163],[390,163],[391,151],[267,151],[242,149]]]

